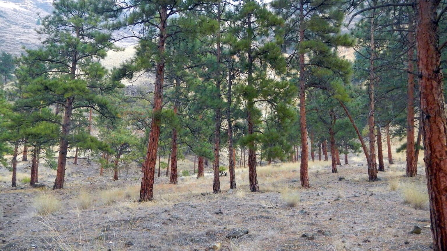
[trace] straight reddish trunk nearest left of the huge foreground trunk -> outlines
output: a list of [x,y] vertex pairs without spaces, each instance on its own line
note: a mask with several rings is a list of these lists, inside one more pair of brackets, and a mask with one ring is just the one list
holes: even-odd
[[[411,15],[410,15],[411,16]],[[410,28],[413,25],[410,24]],[[408,85],[407,85],[407,177],[416,177],[417,166],[414,164],[414,67],[413,67],[413,32],[408,33]]]

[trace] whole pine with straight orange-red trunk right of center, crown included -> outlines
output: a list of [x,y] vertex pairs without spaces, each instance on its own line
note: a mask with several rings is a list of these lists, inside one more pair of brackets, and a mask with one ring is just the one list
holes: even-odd
[[312,71],[313,66],[325,67],[325,64],[330,64],[325,58],[336,54],[332,51],[333,48],[352,46],[352,40],[347,35],[340,35],[344,17],[340,10],[344,4],[342,0],[276,0],[271,4],[286,21],[283,49],[289,54],[287,75],[299,87],[301,187],[309,188],[306,88],[313,84],[306,83],[312,76],[308,72]]

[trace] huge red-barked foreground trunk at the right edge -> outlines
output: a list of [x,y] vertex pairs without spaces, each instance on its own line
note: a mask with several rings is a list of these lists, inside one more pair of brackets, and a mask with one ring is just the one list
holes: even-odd
[[416,45],[433,250],[446,251],[447,117],[436,20],[439,2],[416,1]]

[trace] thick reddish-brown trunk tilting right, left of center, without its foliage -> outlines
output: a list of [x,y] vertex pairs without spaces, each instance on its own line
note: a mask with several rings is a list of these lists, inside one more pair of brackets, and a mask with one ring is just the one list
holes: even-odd
[[158,41],[159,60],[156,64],[154,103],[152,109],[151,131],[149,134],[148,153],[143,166],[143,179],[141,180],[139,201],[150,201],[153,199],[155,164],[157,161],[158,140],[160,137],[160,113],[163,101],[164,85],[164,46],[166,42],[166,25],[168,12],[166,7],[160,9],[160,37]]

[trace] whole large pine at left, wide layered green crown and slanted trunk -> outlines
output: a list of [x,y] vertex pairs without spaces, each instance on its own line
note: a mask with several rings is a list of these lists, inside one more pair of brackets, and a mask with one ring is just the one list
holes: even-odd
[[[58,0],[53,13],[42,18],[43,49],[27,51],[25,60],[46,63],[52,78],[38,78],[27,88],[30,105],[46,107],[59,104],[63,121],[59,144],[58,167],[53,189],[63,188],[65,164],[72,133],[72,114],[79,108],[107,109],[108,101],[100,93],[111,92],[119,85],[106,82],[105,70],[97,63],[113,48],[110,32],[102,29],[105,17],[93,12],[95,1]],[[95,81],[89,81],[95,79]]]

